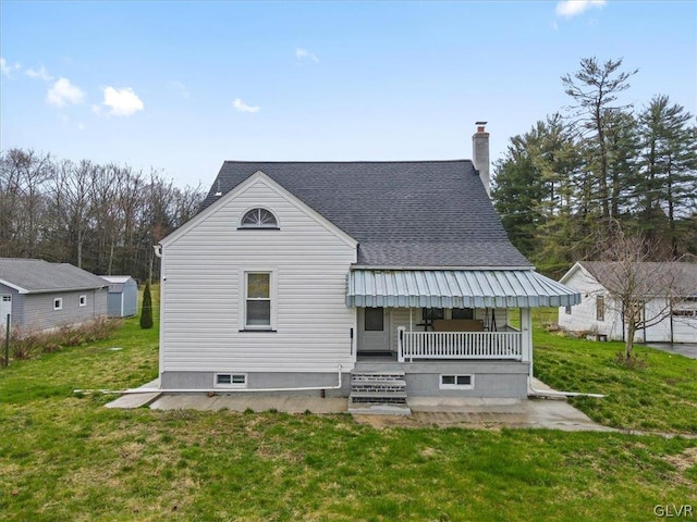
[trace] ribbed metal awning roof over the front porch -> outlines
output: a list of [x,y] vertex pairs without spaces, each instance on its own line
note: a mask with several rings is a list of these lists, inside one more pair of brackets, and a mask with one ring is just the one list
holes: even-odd
[[346,306],[537,308],[578,304],[580,294],[531,270],[353,270]]

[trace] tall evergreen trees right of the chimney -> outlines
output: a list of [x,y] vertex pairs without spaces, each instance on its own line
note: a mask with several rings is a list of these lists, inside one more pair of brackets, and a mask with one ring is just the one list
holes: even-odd
[[[583,59],[570,105],[510,139],[492,197],[513,244],[559,276],[617,225],[662,259],[697,254],[697,126],[665,95],[620,102],[637,71]],[[656,259],[661,260],[661,259]]]

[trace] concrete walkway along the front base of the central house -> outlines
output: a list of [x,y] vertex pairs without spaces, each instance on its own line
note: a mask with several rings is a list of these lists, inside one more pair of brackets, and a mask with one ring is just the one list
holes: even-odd
[[[148,383],[152,389],[159,383]],[[535,389],[549,389],[535,380]],[[599,399],[602,400],[602,399]],[[376,427],[384,426],[461,426],[470,428],[543,427],[563,431],[615,431],[594,423],[565,399],[480,399],[411,397],[411,415],[354,414],[356,422]],[[282,396],[255,393],[200,394],[132,394],[109,402],[108,408],[140,408],[155,410],[230,410],[280,411],[288,413],[346,413],[346,398],[321,398],[319,395]]]

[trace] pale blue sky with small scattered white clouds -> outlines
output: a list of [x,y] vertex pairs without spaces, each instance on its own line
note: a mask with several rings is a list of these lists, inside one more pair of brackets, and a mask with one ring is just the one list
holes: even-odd
[[496,160],[594,55],[697,113],[694,1],[0,0],[0,149],[207,189],[224,160],[470,158],[485,120]]

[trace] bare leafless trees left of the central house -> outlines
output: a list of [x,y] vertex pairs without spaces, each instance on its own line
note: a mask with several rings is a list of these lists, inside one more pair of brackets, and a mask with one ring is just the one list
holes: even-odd
[[0,153],[0,257],[157,278],[154,245],[203,197],[200,187],[180,189],[157,171],[10,149]]

